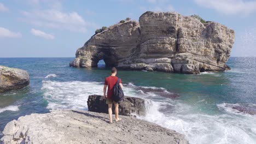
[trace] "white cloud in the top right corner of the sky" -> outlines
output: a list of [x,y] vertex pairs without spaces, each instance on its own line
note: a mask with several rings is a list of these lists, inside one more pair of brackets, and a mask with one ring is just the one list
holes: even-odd
[[222,14],[248,15],[256,11],[256,1],[245,0],[194,0],[201,7],[210,8]]

